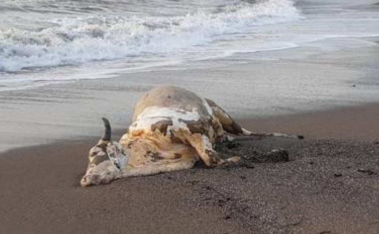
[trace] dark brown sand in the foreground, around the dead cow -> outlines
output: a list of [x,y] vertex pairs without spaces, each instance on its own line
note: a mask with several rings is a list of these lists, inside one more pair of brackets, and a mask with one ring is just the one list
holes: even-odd
[[[0,155],[0,233],[379,233],[379,106],[244,120],[308,138],[220,146],[244,165],[81,188],[97,139]],[[347,140],[352,139],[352,140]],[[271,149],[289,162],[257,163]]]

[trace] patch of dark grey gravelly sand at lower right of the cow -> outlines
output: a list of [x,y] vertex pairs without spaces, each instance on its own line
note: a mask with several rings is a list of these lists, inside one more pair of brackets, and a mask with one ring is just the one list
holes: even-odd
[[243,233],[379,230],[378,144],[272,139],[225,142],[217,151],[242,160],[169,176],[192,187],[186,199],[219,207]]

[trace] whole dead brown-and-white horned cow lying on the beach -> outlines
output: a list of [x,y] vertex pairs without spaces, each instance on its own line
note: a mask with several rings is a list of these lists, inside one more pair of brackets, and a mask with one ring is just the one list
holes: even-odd
[[174,86],[154,88],[139,99],[128,133],[119,143],[111,141],[109,121],[103,121],[105,134],[89,151],[82,186],[188,169],[198,160],[207,166],[220,165],[226,160],[215,151],[215,143],[228,133],[298,138],[283,133],[252,133],[241,128],[215,102]]

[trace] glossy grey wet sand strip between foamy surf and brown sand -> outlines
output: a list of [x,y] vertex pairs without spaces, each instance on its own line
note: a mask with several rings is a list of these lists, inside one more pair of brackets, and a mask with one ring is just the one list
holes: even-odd
[[[332,46],[336,40],[326,39],[323,44]],[[124,129],[138,97],[163,84],[213,99],[236,119],[379,102],[379,46],[371,42],[377,38],[343,40],[356,44],[320,50],[315,42],[294,49],[186,61],[108,79],[1,92],[0,151],[96,137],[102,131],[102,117],[110,119],[114,129]]]

